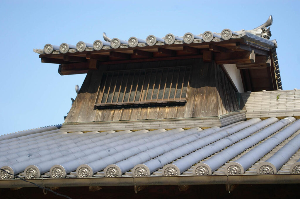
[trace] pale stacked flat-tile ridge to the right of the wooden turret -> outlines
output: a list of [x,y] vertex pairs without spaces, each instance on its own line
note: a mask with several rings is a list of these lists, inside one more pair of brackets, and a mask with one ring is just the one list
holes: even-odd
[[300,116],[300,90],[241,93],[246,118]]

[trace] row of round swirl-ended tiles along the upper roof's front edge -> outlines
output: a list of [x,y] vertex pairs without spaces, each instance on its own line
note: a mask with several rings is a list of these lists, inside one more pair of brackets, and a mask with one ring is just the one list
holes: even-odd
[[176,40],[177,41],[184,41],[184,43],[190,44],[195,39],[203,40],[205,42],[211,42],[213,38],[222,38],[223,40],[229,40],[232,37],[232,34],[237,35],[237,33],[232,32],[229,29],[224,29],[220,35],[214,34],[211,31],[205,31],[202,34],[202,37],[199,35],[194,35],[192,33],[186,33],[183,37],[177,37],[174,34],[167,34],[164,39],[155,37],[154,35],[149,35],[146,40],[138,39],[136,37],[130,37],[128,41],[120,40],[118,38],[111,39],[110,42],[96,40],[93,44],[85,43],[85,42],[78,42],[76,45],[70,45],[67,43],[62,43],[60,46],[46,44],[44,46],[44,53],[51,54],[53,50],[59,50],[61,53],[67,53],[69,49],[76,49],[79,52],[85,51],[87,48],[94,48],[94,50],[101,50],[103,46],[110,46],[111,48],[119,48],[121,44],[126,44],[129,47],[136,47],[139,43],[144,43],[149,46],[153,46],[156,42],[165,42],[168,45],[173,44]]

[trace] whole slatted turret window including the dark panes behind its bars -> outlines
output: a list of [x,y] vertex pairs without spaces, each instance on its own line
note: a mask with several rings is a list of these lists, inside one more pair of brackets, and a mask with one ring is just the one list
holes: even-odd
[[190,66],[104,72],[96,107],[186,102]]

